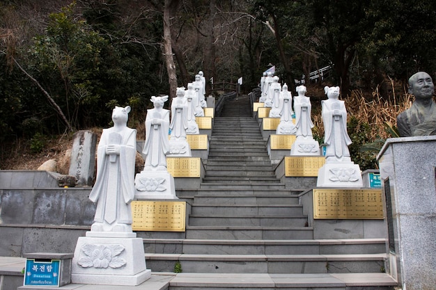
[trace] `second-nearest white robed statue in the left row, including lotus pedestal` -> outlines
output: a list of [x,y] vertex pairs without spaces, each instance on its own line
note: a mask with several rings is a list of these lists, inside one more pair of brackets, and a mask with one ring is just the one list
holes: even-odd
[[174,178],[166,169],[166,154],[170,147],[169,111],[163,108],[166,100],[168,96],[151,97],[155,108],[147,111],[146,142],[142,150],[146,162],[134,179],[137,199],[177,199]]

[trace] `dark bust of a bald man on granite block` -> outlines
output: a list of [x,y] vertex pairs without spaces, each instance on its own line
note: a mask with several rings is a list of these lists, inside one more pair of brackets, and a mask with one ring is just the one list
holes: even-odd
[[416,72],[409,79],[409,93],[415,100],[412,107],[397,117],[400,136],[436,135],[436,104],[433,101],[435,85],[429,74]]

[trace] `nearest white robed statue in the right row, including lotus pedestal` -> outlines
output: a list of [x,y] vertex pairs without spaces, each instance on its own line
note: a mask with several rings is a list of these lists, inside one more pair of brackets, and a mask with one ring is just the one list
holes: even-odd
[[339,87],[325,87],[328,99],[321,101],[324,142],[327,144],[325,165],[318,170],[318,187],[363,187],[359,164],[351,161],[348,145],[347,111],[338,100]]

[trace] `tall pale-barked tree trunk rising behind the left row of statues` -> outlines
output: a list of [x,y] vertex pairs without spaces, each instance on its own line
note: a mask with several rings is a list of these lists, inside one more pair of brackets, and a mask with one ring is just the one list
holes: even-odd
[[176,96],[177,89],[176,65],[174,63],[173,47],[171,45],[171,8],[177,5],[177,3],[178,0],[165,0],[164,4],[164,56],[166,73],[168,74],[170,98]]

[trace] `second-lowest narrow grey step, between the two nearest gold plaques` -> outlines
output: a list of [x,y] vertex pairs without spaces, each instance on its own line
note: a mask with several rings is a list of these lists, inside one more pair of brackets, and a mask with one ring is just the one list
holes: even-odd
[[280,227],[288,225],[292,227],[304,227],[307,225],[307,217],[304,216],[196,216],[189,215],[189,225],[192,226],[219,226],[231,225],[234,227]]

